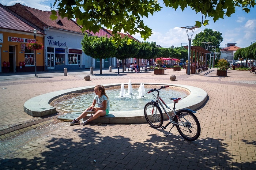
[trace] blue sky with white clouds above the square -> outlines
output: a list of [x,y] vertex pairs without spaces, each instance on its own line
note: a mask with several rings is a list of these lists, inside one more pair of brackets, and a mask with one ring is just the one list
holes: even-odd
[[[169,48],[172,45],[174,48],[188,45],[187,33],[180,27],[194,26],[196,20],[202,20],[202,15],[196,14],[190,8],[186,8],[184,11],[180,9],[175,11],[172,8],[166,8],[162,0],[158,2],[163,7],[162,10],[154,13],[153,16],[143,18],[144,23],[153,31],[151,37],[146,41],[156,42],[157,45],[164,48]],[[0,3],[3,5],[20,3],[39,10],[50,10],[50,3],[52,3],[52,9],[54,9],[54,0],[0,0]],[[216,22],[212,18],[207,19],[210,20],[209,25],[195,29],[192,39],[207,28],[222,33],[223,42],[220,47],[225,47],[227,43],[236,43],[236,46],[245,48],[256,42],[256,7],[252,8],[249,14],[242,11],[241,8],[236,8],[236,12],[231,17],[225,16],[224,19],[219,19]],[[144,41],[139,34],[135,34],[133,37]],[[191,37],[191,32],[189,32],[189,37]]]

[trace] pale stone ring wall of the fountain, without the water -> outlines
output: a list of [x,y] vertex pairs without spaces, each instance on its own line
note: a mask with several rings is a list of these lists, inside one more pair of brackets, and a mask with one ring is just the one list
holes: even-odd
[[[140,83],[132,83],[132,85],[139,85]],[[127,85],[127,83],[125,84]],[[207,100],[207,92],[192,86],[176,85],[176,84],[160,84],[160,83],[144,83],[144,85],[158,85],[158,86],[173,86],[177,88],[184,88],[188,90],[190,94],[188,97],[182,99],[176,105],[176,110],[188,108],[195,110],[203,105]],[[121,84],[103,84],[105,88],[121,86]],[[55,92],[50,92],[47,94],[39,95],[37,97],[29,99],[24,104],[24,111],[31,116],[45,116],[48,114],[56,113],[56,108],[50,106],[49,104],[59,97],[72,93],[82,93],[86,91],[92,91],[94,86],[71,88],[67,90],[60,90]],[[173,108],[173,103],[168,104],[170,108]],[[67,117],[66,115],[58,116],[60,120],[72,121],[75,117]],[[84,120],[87,118],[84,118]],[[109,115],[99,117],[93,121],[93,123],[109,123],[109,124],[127,124],[127,123],[143,123],[147,122],[144,118],[144,110],[132,110],[132,111],[110,111]]]

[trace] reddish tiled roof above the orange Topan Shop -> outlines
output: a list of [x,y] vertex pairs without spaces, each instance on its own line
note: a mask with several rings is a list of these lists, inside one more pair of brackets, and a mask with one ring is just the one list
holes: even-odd
[[[11,12],[8,8],[2,6],[0,4],[0,28],[3,29],[11,29],[11,30],[18,30],[18,31],[26,31],[30,32],[35,28],[31,25],[25,23],[18,17],[16,17],[13,12]],[[42,34],[42,33],[41,33]]]

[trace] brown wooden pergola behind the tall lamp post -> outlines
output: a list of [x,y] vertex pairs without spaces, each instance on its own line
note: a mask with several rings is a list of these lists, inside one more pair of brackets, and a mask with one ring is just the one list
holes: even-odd
[[[184,48],[188,49],[188,46],[184,46]],[[191,46],[191,61],[193,61],[193,52],[195,51],[195,65],[196,61],[198,65],[207,65],[207,54],[211,53],[210,51],[204,49],[201,46]],[[192,68],[193,62],[191,62],[191,67]]]

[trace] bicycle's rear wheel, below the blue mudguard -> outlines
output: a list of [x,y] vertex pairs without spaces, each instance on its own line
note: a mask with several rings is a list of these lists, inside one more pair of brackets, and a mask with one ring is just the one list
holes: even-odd
[[180,135],[188,141],[196,140],[200,136],[201,127],[195,114],[182,111],[178,112],[177,116],[176,127]]

